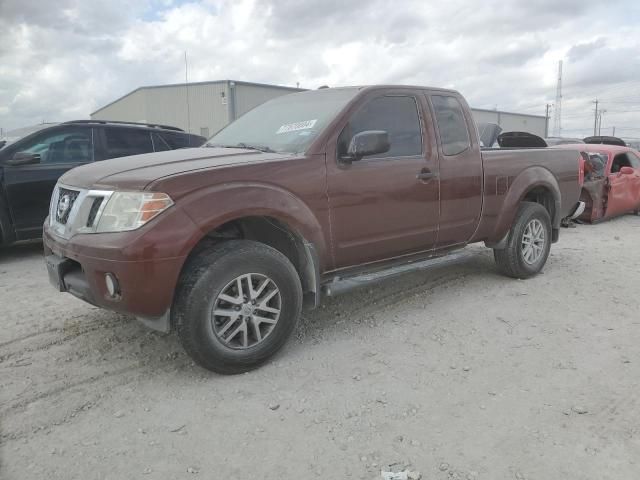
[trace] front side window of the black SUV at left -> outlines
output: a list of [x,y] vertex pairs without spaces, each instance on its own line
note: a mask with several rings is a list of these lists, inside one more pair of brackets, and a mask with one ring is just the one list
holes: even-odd
[[66,127],[36,136],[17,152],[40,155],[40,163],[87,163],[93,161],[90,128]]

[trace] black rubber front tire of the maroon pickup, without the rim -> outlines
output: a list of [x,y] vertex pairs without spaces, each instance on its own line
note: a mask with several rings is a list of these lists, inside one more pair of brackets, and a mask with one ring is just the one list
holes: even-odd
[[[214,327],[212,308],[224,289],[246,274],[264,275],[272,280],[280,292],[280,314],[259,343],[234,349],[214,331],[220,327]],[[293,332],[301,309],[300,277],[287,257],[262,243],[231,240],[188,261],[178,285],[173,321],[184,349],[196,363],[230,375],[252,370],[272,357]],[[242,322],[242,318],[249,317],[238,321]]]

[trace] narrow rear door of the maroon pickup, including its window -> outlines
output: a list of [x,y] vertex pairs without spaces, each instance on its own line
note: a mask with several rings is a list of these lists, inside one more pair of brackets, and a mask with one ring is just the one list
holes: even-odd
[[438,138],[440,225],[436,247],[466,243],[482,214],[482,156],[475,123],[464,99],[428,95]]

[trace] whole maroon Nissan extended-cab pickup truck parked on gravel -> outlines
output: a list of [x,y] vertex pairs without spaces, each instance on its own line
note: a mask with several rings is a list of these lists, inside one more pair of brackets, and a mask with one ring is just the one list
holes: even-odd
[[580,212],[580,158],[481,152],[451,90],[286,95],[203,148],[66,173],[47,269],[60,291],[177,330],[205,368],[243,372],[282,347],[303,306],[399,265],[485,242],[502,273],[535,275]]

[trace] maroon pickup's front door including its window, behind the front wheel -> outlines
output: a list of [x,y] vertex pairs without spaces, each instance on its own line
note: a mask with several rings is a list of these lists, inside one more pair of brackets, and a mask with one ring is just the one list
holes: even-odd
[[[327,148],[335,267],[434,247],[438,228],[438,158],[426,104],[416,92],[375,91],[363,98]],[[351,138],[383,130],[386,153],[345,160]]]

